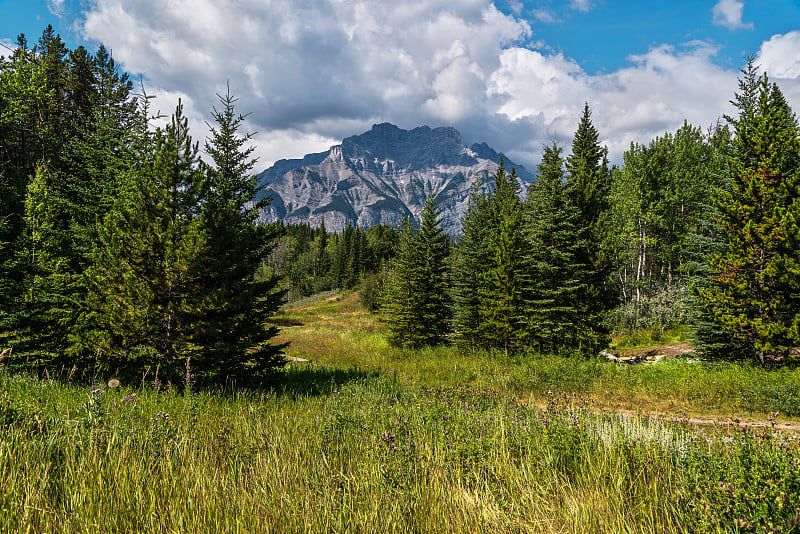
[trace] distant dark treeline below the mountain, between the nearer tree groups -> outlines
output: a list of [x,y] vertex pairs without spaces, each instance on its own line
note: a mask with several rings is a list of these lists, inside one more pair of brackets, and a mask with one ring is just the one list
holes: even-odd
[[309,224],[274,224],[280,237],[267,256],[265,272],[279,275],[287,300],[331,289],[362,287],[362,299],[375,306],[377,274],[394,258],[399,232],[384,224],[367,229],[350,224],[328,233]]

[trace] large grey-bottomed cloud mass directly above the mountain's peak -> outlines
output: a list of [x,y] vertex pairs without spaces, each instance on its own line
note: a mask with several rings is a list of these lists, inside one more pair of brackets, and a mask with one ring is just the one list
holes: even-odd
[[485,114],[484,80],[530,29],[485,0],[93,0],[83,32],[200,108],[229,79],[255,129],[306,150],[373,122]]

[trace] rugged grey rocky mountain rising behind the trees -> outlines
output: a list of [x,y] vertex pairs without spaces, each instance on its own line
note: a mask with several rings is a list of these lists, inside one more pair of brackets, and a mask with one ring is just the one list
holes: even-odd
[[[312,226],[324,219],[331,231],[348,223],[396,227],[406,216],[419,222],[425,198],[433,192],[442,227],[455,235],[470,188],[478,177],[491,185],[499,161],[486,143],[468,147],[455,128],[376,124],[327,152],[280,160],[259,174],[262,197],[272,197],[260,217]],[[505,165],[509,172],[516,168],[524,193],[533,176],[509,160]]]

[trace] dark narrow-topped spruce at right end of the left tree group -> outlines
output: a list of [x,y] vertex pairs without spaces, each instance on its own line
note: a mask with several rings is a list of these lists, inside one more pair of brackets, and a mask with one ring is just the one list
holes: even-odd
[[209,379],[241,380],[264,376],[284,363],[282,346],[269,343],[278,329],[268,325],[283,293],[277,291],[277,276],[256,276],[277,236],[256,222],[268,201],[253,202],[258,192],[254,149],[246,146],[250,136],[239,134],[245,117],[236,114],[230,87],[217,96],[221,109],[212,112],[215,124],[205,143],[213,166],[204,169],[201,209],[206,243],[200,284],[207,300],[193,338],[201,348],[192,363]]

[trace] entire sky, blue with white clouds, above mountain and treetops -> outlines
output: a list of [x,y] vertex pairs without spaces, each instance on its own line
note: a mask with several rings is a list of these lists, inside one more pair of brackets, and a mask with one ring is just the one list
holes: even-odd
[[452,125],[534,167],[583,103],[612,158],[707,127],[756,55],[798,109],[800,0],[0,0],[0,42],[99,42],[195,137],[230,80],[262,166],[393,122]]

